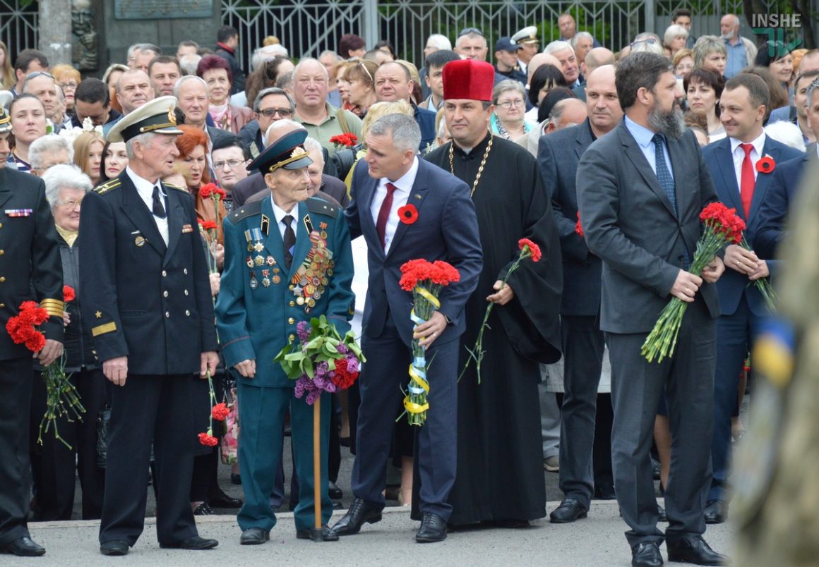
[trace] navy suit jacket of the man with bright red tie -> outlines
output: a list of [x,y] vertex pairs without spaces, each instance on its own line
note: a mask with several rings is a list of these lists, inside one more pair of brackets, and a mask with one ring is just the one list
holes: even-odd
[[[765,137],[765,146],[762,148],[762,155],[770,155],[776,164],[781,164],[785,160],[799,157],[799,151],[794,150],[781,142],[776,142],[770,136]],[[728,207],[735,207],[737,214],[745,221],[745,239],[753,243],[756,232],[760,226],[759,209],[762,203],[767,200],[771,178],[776,173],[777,167],[772,173],[757,173],[757,182],[753,186],[753,200],[751,200],[751,210],[749,218],[745,218],[742,200],[740,199],[740,185],[736,180],[734,160],[731,156],[731,138],[722,138],[719,142],[714,142],[703,149],[705,164],[711,172],[714,186],[717,187],[717,197]],[[768,268],[771,273],[776,270],[776,263],[769,262]],[[748,300],[751,312],[754,315],[765,315],[767,308],[765,300],[753,286],[748,277],[736,270],[726,266],[725,273],[717,280],[717,294],[719,295],[720,309],[723,315],[733,315],[740,304],[740,298],[745,295]]]

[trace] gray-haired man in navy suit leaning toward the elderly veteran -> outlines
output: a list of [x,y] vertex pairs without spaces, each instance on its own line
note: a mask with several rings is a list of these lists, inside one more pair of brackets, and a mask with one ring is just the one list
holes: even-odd
[[[444,170],[419,160],[421,133],[415,120],[386,115],[366,137],[367,168],[358,167],[353,200],[346,209],[351,236],[361,234],[369,248],[369,288],[364,308],[362,348],[367,363],[361,372],[361,406],[353,467],[355,501],[333,532],[358,533],[362,524],[381,520],[382,490],[401,388],[409,380],[414,337],[427,349],[430,385],[427,421],[418,430],[415,459],[419,467],[419,508],[423,520],[418,542],[446,538],[447,502],[455,483],[457,455],[457,376],[459,337],[465,329],[464,304],[482,269],[481,242],[469,187]],[[412,204],[414,223],[402,223],[398,209]],[[412,295],[400,289],[400,267],[411,259],[445,260],[460,273],[446,286],[441,307],[428,322],[414,327],[409,319]]]

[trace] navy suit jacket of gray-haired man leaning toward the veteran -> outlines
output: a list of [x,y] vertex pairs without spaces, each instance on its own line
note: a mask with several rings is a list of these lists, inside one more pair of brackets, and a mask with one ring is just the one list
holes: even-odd
[[[418,158],[416,158],[418,159]],[[391,313],[401,339],[409,347],[414,323],[409,320],[412,293],[400,289],[401,265],[408,260],[445,260],[460,272],[460,281],[441,290],[438,311],[451,322],[441,337],[441,343],[457,339],[463,332],[464,305],[477,287],[483,267],[481,240],[477,230],[477,215],[469,187],[451,173],[419,160],[408,204],[418,209],[418,220],[412,224],[398,223],[390,249],[384,254],[381,240],[370,213],[378,179],[369,176],[367,162],[361,160],[352,181],[353,200],[345,209],[353,238],[364,235],[367,241],[369,287],[364,307],[364,334],[381,335],[387,313]]]

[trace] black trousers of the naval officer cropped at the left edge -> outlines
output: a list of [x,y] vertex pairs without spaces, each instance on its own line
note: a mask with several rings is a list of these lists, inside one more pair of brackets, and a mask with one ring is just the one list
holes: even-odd
[[0,546],[29,535],[31,356],[0,361]]

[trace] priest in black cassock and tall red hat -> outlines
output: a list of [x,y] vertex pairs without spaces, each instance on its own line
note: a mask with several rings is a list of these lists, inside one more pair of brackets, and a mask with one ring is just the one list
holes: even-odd
[[[450,493],[450,525],[517,527],[545,516],[539,362],[560,358],[560,248],[549,195],[536,160],[488,129],[492,65],[444,66],[444,109],[452,142],[427,160],[472,188],[483,271],[466,305],[459,369],[469,358],[486,307],[493,302],[477,383],[474,362],[458,384],[458,473]],[[518,258],[518,240],[540,246],[539,262]]]

